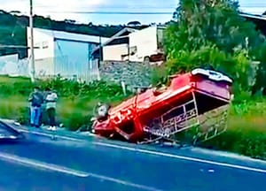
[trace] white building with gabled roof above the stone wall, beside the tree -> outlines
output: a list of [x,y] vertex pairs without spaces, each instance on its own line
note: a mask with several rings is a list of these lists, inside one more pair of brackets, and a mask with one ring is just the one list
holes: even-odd
[[[165,27],[151,26],[141,30],[126,27],[102,44],[104,61],[142,62],[154,55],[162,54]],[[99,47],[93,51],[98,54]]]

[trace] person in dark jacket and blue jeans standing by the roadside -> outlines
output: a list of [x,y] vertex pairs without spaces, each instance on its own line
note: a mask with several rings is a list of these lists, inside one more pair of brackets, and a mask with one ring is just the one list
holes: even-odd
[[35,87],[34,92],[29,95],[28,102],[30,103],[30,125],[38,128],[43,104],[43,94],[39,87]]

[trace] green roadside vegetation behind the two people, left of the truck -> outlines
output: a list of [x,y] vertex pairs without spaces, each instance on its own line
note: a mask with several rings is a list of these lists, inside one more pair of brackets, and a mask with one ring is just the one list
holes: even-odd
[[[123,95],[120,85],[95,81],[82,84],[71,80],[38,80],[35,84],[27,78],[0,77],[0,117],[13,118],[23,125],[29,123],[27,96],[35,85],[52,88],[59,94],[57,119],[69,130],[90,126],[93,108],[98,102],[119,103],[130,95]],[[6,102],[8,100],[9,102]],[[43,119],[45,122],[45,118]]]

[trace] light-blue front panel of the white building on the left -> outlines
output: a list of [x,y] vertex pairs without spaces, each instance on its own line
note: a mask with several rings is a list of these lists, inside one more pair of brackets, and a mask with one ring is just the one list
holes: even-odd
[[90,52],[97,45],[90,42],[54,42],[55,74],[66,78],[87,79],[90,74]]

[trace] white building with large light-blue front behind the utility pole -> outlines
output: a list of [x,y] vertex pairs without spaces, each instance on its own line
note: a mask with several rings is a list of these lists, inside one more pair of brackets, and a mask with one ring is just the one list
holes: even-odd
[[[76,76],[82,80],[87,79],[90,70],[96,67],[91,65],[92,50],[107,40],[94,35],[34,28],[35,74],[37,77],[60,74],[66,78]],[[29,27],[27,46],[30,46]]]

